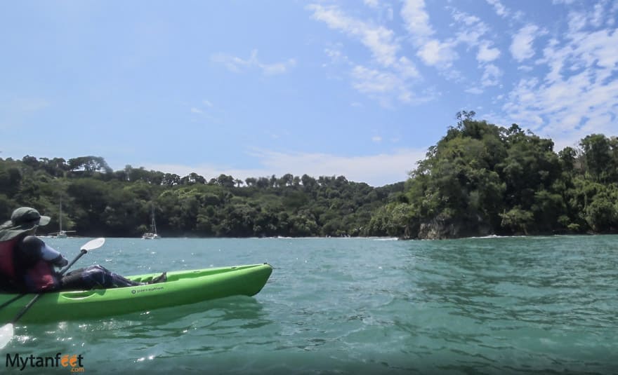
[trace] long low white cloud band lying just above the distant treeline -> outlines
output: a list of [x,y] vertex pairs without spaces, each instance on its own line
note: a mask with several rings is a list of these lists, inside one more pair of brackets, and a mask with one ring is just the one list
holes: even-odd
[[282,176],[345,176],[349,181],[365,182],[371,186],[383,186],[405,181],[407,172],[416,168],[416,162],[425,158],[426,149],[400,149],[390,154],[367,156],[336,156],[331,154],[283,153],[277,151],[253,151],[251,153],[260,167],[238,169],[215,165],[145,165],[147,170],[176,173],[180,177],[195,172],[208,179],[222,173],[235,179],[248,177]]

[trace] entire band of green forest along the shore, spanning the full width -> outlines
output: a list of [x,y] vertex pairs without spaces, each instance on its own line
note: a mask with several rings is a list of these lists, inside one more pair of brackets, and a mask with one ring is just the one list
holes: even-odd
[[[206,179],[99,156],[0,158],[0,216],[36,207],[79,236],[140,237],[152,207],[165,238],[395,237],[618,233],[618,137],[551,139],[456,114],[409,179],[372,187],[343,176]],[[51,229],[50,229],[51,230]],[[45,235],[42,230],[39,234]]]

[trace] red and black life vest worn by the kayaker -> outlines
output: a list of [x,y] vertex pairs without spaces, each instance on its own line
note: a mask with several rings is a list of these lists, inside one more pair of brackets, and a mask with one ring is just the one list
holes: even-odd
[[14,285],[25,287],[28,292],[46,292],[59,285],[53,266],[39,259],[34,266],[25,270],[15,268],[15,248],[21,236],[0,242],[0,276]]

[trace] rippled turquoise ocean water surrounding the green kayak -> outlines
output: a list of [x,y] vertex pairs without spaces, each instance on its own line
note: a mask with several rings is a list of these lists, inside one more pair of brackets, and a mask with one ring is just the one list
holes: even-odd
[[[72,259],[88,238],[47,239]],[[616,374],[618,236],[141,240],[75,267],[124,275],[270,263],[254,297],[17,325],[6,355],[86,374]]]

